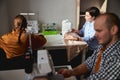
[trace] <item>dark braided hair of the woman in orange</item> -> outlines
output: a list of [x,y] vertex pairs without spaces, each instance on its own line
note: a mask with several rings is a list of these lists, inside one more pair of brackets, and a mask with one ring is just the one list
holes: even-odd
[[18,43],[20,43],[22,30],[27,28],[27,20],[23,15],[17,15],[14,19],[21,19],[22,21],[21,23],[20,22],[17,23],[17,26],[19,26],[19,29],[20,29],[19,36],[18,36]]

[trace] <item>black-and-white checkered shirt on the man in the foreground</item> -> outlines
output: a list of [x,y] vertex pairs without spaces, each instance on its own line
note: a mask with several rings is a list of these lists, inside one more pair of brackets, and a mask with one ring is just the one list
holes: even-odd
[[98,52],[102,46],[99,46],[84,64],[91,71],[87,80],[120,80],[120,40],[109,46],[101,56],[100,67],[97,73],[94,73]]

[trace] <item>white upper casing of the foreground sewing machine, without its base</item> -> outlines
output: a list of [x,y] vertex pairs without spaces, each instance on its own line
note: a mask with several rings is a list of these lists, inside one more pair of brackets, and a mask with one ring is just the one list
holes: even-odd
[[53,61],[51,56],[48,54],[47,50],[38,50],[37,52],[37,67],[42,75],[46,75],[48,73],[55,73],[53,67]]

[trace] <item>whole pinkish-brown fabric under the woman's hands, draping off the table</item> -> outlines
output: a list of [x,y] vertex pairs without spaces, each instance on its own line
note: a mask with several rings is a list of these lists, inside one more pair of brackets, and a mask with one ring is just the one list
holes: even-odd
[[64,36],[68,61],[74,59],[83,50],[87,52],[88,44],[85,41],[77,40],[79,37],[80,36],[74,32],[69,32]]

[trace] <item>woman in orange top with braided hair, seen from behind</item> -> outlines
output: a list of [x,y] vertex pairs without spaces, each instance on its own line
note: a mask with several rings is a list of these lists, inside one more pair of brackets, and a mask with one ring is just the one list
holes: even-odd
[[[27,20],[23,15],[14,18],[14,27],[10,33],[0,37],[0,55],[11,59],[25,53],[29,45],[29,36],[26,34]],[[32,49],[39,49],[46,43],[43,35],[31,35]]]

